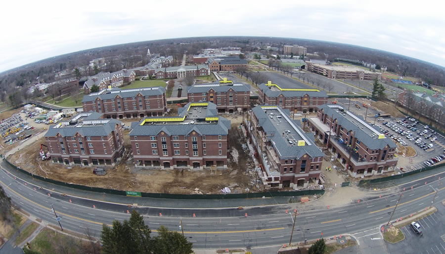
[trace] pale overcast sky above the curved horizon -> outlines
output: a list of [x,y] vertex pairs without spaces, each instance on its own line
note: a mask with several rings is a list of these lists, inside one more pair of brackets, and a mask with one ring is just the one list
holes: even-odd
[[430,0],[4,1],[0,72],[83,49],[190,36],[326,40],[445,66],[441,4]]

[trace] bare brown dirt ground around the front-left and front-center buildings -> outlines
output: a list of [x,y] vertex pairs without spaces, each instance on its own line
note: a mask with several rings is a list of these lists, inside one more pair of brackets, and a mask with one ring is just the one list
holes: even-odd
[[[92,174],[93,167],[64,166],[54,164],[50,160],[42,161],[39,155],[40,144],[45,144],[41,138],[31,145],[21,148],[12,154],[9,161],[33,174],[87,186],[114,188],[156,193],[222,193],[223,187],[229,187],[232,193],[258,191],[256,175],[253,173],[253,161],[248,150],[243,147],[245,137],[239,130],[242,115],[227,116],[232,121],[229,131],[229,163],[228,170],[217,170],[211,173],[209,169],[202,171],[139,169],[134,167],[133,158],[127,156],[131,151],[129,132],[124,131],[124,146],[126,155],[111,168],[107,168],[105,176]],[[195,189],[198,189],[195,192]]]

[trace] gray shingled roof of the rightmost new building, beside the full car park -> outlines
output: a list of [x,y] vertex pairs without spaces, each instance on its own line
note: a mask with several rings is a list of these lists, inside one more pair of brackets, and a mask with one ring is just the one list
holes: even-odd
[[[389,139],[388,137],[386,139],[378,139],[377,137],[372,138],[371,136],[366,134],[362,129],[360,129],[355,124],[346,119],[343,115],[338,113],[336,109],[330,108],[327,104],[318,106],[318,109],[323,109],[323,113],[329,115],[329,117],[333,115],[334,119],[337,119],[337,123],[343,126],[343,128],[345,128],[346,130],[353,132],[355,131],[356,132],[355,137],[360,141],[360,143],[363,143],[369,149],[383,149],[385,148],[386,145],[388,145],[390,148],[397,147],[397,145],[393,142],[393,140]],[[356,115],[356,116],[364,121],[364,118],[361,115],[360,116]]]

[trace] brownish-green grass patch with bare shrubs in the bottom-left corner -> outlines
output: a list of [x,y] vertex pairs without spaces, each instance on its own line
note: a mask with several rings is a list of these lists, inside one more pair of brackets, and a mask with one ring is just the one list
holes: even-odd
[[[76,239],[51,229],[44,228],[30,244],[33,251],[45,254],[59,254],[56,248],[57,243],[69,243],[71,240],[75,241]],[[79,250],[77,250],[75,246],[72,246],[69,253],[74,254],[78,253],[78,251]]]

